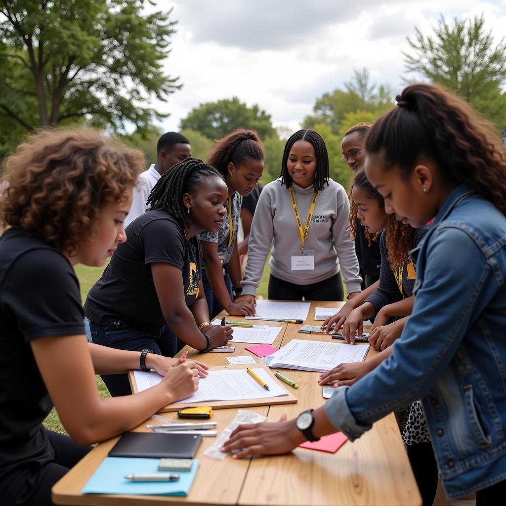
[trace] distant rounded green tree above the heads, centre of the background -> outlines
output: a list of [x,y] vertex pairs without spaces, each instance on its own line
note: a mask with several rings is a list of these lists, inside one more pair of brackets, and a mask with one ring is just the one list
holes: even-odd
[[274,135],[271,116],[258,105],[247,107],[237,97],[200,104],[181,120],[181,129],[191,129],[217,140],[237,128],[256,130],[262,139]]

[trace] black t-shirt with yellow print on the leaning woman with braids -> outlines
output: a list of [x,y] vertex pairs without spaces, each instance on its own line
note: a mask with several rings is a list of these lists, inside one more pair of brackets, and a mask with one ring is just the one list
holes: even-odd
[[151,263],[171,264],[183,276],[186,305],[198,296],[202,250],[197,237],[187,239],[183,225],[163,209],[147,211],[126,227],[110,264],[85,303],[86,316],[101,325],[120,322],[155,330],[165,325]]

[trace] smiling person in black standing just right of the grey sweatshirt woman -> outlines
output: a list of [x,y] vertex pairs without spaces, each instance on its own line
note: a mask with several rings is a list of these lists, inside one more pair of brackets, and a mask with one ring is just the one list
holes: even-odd
[[[353,125],[345,133],[341,142],[343,158],[354,173],[364,168],[364,139],[371,126],[371,123],[366,122]],[[355,231],[352,239],[355,241],[355,252],[358,264],[360,265],[360,276],[363,279],[362,289],[365,290],[365,288],[379,279],[381,253],[379,252],[378,237],[371,237],[370,233],[360,224],[359,218],[357,218],[357,209],[353,205],[351,191],[348,196],[351,205],[350,226]]]

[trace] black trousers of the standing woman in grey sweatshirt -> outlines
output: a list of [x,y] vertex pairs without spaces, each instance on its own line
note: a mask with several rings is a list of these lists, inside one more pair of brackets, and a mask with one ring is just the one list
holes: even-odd
[[341,272],[319,283],[297,285],[271,274],[268,298],[278,301],[342,301],[344,298]]

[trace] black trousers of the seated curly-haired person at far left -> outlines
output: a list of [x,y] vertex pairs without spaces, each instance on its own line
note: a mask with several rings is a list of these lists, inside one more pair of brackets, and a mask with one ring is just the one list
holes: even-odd
[[47,462],[23,462],[19,470],[3,478],[0,503],[10,506],[51,506],[51,488],[76,463],[85,456],[92,446],[81,447],[72,438],[46,431],[54,453],[54,459]]

